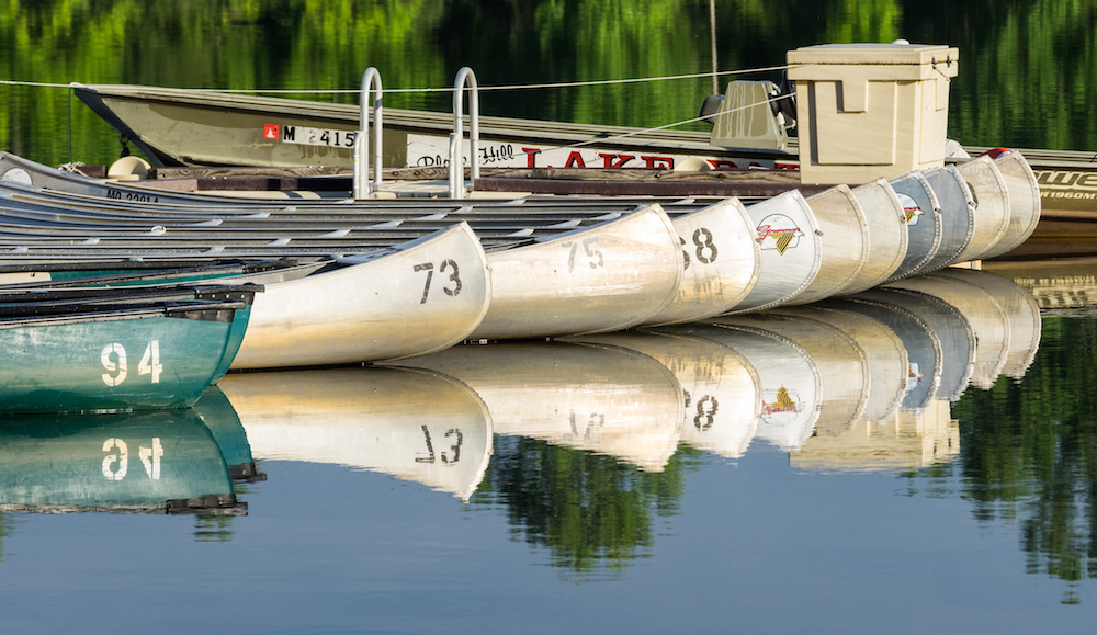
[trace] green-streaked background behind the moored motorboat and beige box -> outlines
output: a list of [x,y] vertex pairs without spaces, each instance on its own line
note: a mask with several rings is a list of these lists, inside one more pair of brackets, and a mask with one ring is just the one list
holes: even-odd
[[[950,135],[972,145],[1097,149],[1087,0],[716,0],[722,70],[779,66],[821,43],[960,48]],[[712,68],[708,0],[0,0],[0,79],[182,88],[442,88],[663,77]],[[764,77],[777,79],[777,73]],[[486,93],[486,114],[656,126],[695,116],[710,78]],[[68,160],[68,91],[0,87],[0,148]],[[353,94],[301,94],[357,101]],[[388,105],[449,111],[444,93]],[[113,131],[72,104],[73,158],[110,162]]]

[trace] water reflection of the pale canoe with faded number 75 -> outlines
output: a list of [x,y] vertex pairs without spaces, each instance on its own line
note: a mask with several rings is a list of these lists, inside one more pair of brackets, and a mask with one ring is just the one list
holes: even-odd
[[682,430],[674,374],[635,351],[600,344],[514,342],[454,347],[393,362],[471,386],[495,431],[609,454],[661,470]]

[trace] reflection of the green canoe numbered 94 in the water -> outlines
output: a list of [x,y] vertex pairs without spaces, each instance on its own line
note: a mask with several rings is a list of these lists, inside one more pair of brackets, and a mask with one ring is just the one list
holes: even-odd
[[0,511],[235,514],[220,447],[194,411],[0,419]]

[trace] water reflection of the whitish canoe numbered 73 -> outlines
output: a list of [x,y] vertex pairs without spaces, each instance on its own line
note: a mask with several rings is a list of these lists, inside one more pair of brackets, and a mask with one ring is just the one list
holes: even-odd
[[408,368],[229,374],[219,387],[258,458],[391,474],[467,500],[491,455],[491,418],[464,384]]

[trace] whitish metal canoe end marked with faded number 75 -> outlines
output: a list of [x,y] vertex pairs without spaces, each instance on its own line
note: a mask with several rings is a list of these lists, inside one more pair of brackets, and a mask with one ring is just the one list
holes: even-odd
[[658,315],[678,294],[682,250],[663,207],[530,246],[491,251],[491,306],[474,339],[614,331]]

